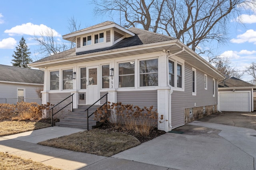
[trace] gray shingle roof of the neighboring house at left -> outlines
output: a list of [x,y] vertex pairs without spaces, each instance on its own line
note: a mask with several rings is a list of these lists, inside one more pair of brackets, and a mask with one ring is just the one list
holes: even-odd
[[0,81],[44,84],[44,71],[0,64]]

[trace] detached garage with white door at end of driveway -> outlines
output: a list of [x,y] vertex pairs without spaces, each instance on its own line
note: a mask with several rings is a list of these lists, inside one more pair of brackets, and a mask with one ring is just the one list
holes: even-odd
[[253,111],[253,91],[256,86],[231,77],[218,84],[218,109],[220,111]]

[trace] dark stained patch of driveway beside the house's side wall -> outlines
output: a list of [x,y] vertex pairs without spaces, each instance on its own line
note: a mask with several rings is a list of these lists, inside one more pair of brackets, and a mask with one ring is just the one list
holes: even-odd
[[205,137],[220,137],[218,134],[221,132],[221,130],[218,129],[212,129],[208,127],[200,127],[195,125],[184,125],[181,127],[177,127],[170,131],[170,133],[180,133],[184,135],[200,135]]

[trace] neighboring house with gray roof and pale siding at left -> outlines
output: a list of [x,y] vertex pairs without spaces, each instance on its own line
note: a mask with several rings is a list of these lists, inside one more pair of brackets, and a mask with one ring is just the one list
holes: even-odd
[[[0,64],[0,103],[37,102],[44,86],[44,71]],[[39,93],[40,94],[40,93]]]

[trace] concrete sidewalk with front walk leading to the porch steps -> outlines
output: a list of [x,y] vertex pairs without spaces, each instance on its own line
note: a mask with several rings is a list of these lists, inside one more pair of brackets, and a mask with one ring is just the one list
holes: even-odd
[[[0,152],[8,152],[63,170],[168,170],[169,168],[124,159],[98,156],[37,145],[36,143],[84,131],[68,127],[47,127],[0,137]],[[15,169],[15,168],[14,168]],[[171,170],[171,169],[169,169]]]

